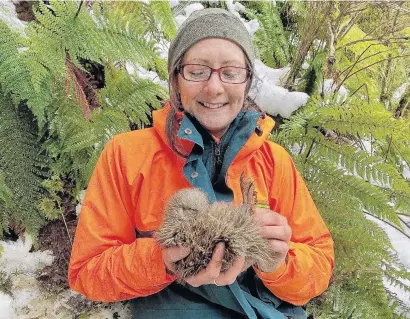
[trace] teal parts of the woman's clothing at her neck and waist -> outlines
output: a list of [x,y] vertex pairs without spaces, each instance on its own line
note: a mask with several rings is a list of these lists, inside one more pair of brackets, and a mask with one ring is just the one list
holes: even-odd
[[[192,186],[208,195],[210,202],[233,199],[232,191],[226,187],[225,175],[232,160],[255,130],[259,116],[260,113],[254,111],[238,114],[220,141],[223,159],[217,170],[214,170],[212,162],[215,142],[211,135],[189,115],[183,117],[178,136],[195,143],[185,163],[184,175]],[[195,288],[172,283],[156,294],[133,299],[131,306],[135,319],[306,319],[301,307],[276,298],[252,267],[229,286],[204,285]]]

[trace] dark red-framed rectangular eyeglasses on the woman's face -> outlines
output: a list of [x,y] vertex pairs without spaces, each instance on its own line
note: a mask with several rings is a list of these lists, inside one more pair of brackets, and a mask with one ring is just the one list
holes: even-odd
[[224,83],[241,84],[246,82],[250,76],[248,68],[237,66],[224,66],[219,69],[212,69],[202,64],[184,64],[179,68],[179,73],[187,81],[204,82],[211,78],[212,73],[217,72],[219,79]]

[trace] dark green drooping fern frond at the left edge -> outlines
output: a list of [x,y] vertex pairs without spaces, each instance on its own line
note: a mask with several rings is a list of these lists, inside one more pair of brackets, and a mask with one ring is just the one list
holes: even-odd
[[24,105],[16,109],[0,94],[1,229],[25,229],[36,237],[46,222],[37,205],[47,197],[41,182],[48,176],[48,165],[30,111]]

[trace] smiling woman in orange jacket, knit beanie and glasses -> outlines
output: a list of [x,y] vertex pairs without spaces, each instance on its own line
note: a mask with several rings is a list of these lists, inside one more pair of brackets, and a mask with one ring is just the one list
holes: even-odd
[[[242,22],[222,9],[194,12],[168,58],[170,102],[154,127],[115,136],[90,180],[69,268],[72,289],[90,299],[133,299],[135,318],[306,318],[299,306],[321,294],[333,269],[333,242],[280,146],[273,121],[245,110],[254,51]],[[197,187],[211,201],[240,204],[240,176],[252,178],[255,221],[277,253],[273,272],[238,257],[220,272],[224,246],[187,285],[173,263],[186,247],[161,249],[153,232],[167,200]],[[134,299],[135,298],[135,299]]]

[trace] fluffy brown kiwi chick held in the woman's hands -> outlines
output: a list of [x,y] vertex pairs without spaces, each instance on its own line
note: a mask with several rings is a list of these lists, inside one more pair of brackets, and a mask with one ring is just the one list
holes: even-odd
[[221,271],[226,271],[237,256],[245,256],[245,262],[257,263],[263,271],[274,270],[275,254],[260,235],[260,226],[252,220],[254,187],[243,176],[241,189],[244,203],[240,206],[228,202],[210,204],[206,194],[196,188],[182,189],[168,201],[163,224],[155,237],[163,248],[190,248],[190,254],[175,263],[178,282],[206,268],[220,242],[225,243]]

